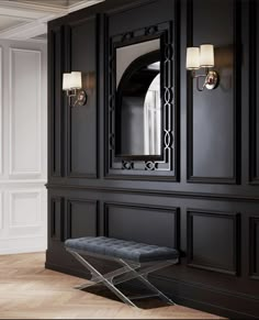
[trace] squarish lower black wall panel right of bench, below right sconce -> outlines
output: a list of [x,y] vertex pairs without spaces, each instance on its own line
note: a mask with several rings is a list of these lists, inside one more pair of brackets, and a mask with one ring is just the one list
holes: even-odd
[[238,214],[189,210],[189,265],[237,275],[240,258]]

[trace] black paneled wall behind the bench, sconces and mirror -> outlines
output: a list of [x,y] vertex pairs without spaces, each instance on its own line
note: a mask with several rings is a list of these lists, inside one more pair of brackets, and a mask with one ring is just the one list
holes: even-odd
[[[105,235],[177,247],[153,275],[179,304],[259,317],[259,2],[108,0],[49,23],[46,267],[87,277],[68,238]],[[114,47],[162,38],[164,158],[115,155]],[[187,46],[215,45],[216,90],[199,92]],[[90,73],[70,108],[61,75]],[[102,263],[100,262],[100,266]]]

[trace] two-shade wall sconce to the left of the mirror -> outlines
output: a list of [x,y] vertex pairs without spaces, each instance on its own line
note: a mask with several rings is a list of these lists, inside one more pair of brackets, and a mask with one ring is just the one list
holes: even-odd
[[63,90],[67,92],[69,107],[71,107],[71,100],[75,98],[72,107],[85,106],[87,103],[87,93],[82,89],[82,74],[74,71],[63,75]]

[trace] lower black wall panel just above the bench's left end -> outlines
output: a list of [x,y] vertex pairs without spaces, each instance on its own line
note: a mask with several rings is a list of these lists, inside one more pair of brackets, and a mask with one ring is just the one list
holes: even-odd
[[67,239],[98,236],[98,202],[68,200]]

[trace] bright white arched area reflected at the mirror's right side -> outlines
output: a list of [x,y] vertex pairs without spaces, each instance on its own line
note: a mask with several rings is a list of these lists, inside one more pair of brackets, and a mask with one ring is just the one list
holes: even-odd
[[161,153],[160,74],[151,82],[145,98],[144,151],[145,155],[160,155]]

